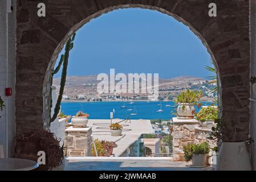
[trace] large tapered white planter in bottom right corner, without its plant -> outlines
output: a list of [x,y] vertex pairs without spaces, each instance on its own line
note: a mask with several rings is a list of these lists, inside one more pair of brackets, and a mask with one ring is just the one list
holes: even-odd
[[223,142],[217,158],[217,170],[251,171],[246,142]]

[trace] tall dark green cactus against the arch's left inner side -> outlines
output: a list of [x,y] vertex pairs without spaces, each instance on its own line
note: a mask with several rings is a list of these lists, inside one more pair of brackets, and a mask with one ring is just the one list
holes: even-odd
[[[58,113],[60,110],[60,104],[62,102],[64,87],[66,84],[68,57],[70,56],[71,49],[74,47],[74,40],[75,40],[75,34],[72,36],[72,38],[68,39],[68,42],[65,47],[65,53],[64,53],[64,55],[62,55],[60,57],[59,64],[56,67],[56,69],[52,72],[52,75],[51,75],[51,86],[52,86],[53,76],[59,72],[60,67],[63,65],[62,76],[61,76],[61,80],[60,80],[59,96],[58,96],[58,99],[57,99],[57,102],[56,102],[56,105],[54,108],[54,115],[52,115],[52,118],[50,119],[50,123],[54,122],[55,119],[58,117]],[[52,88],[51,88],[51,94],[52,94]],[[50,105],[52,107],[52,99],[51,99]]]

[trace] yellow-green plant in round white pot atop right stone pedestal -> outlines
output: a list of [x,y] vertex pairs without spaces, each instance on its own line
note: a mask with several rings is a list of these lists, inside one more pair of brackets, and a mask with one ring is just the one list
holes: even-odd
[[196,110],[195,105],[199,108],[201,106],[200,99],[202,98],[202,91],[186,90],[182,92],[174,102],[178,105],[177,117],[178,119],[193,119]]

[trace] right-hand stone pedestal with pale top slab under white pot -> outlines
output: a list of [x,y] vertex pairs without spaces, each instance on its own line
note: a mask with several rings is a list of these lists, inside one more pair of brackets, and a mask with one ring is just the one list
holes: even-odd
[[173,161],[184,161],[184,151],[182,147],[188,143],[193,143],[195,138],[195,128],[200,126],[196,119],[173,118]]

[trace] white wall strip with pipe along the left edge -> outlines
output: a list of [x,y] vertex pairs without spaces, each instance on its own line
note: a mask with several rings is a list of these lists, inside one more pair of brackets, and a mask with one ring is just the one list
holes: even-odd
[[[0,1],[0,96],[5,101],[6,108],[0,111],[0,145],[3,145],[6,156],[6,113],[8,122],[8,154],[13,154],[13,139],[15,135],[15,59],[16,59],[16,0],[13,0],[13,13],[9,19],[9,62],[6,74],[6,1]],[[7,79],[6,79],[7,75]],[[7,80],[7,81],[6,81]],[[13,96],[5,97],[5,88],[13,88]]]

